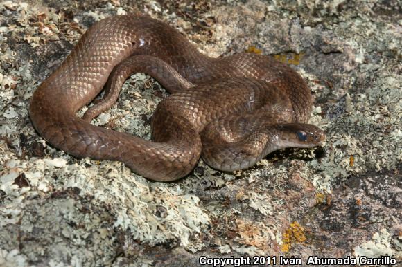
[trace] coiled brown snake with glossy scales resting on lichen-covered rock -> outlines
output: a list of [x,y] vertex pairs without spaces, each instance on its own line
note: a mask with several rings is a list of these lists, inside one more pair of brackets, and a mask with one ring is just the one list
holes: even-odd
[[[152,117],[152,141],[91,125],[116,102],[133,73],[170,93]],[[76,112],[105,87],[83,118]],[[189,174],[200,156],[223,171],[245,169],[284,147],[320,145],[306,122],[311,93],[292,68],[264,55],[198,52],[167,24],[121,15],[98,21],[33,94],[30,118],[51,145],[80,158],[121,160],[155,181]]]

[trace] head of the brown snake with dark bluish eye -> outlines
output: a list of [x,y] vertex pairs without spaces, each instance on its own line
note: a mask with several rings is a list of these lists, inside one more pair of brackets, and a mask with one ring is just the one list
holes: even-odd
[[325,133],[315,125],[286,123],[277,125],[278,145],[285,147],[315,147],[325,140]]

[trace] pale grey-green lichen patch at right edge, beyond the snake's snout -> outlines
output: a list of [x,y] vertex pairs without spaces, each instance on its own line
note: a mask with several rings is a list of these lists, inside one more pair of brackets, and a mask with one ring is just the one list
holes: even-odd
[[[366,94],[355,96],[349,113],[328,122],[328,154],[320,163],[312,163],[324,176],[345,178],[368,169],[381,172],[401,162],[401,77],[378,77]],[[340,133],[339,127],[345,131]]]

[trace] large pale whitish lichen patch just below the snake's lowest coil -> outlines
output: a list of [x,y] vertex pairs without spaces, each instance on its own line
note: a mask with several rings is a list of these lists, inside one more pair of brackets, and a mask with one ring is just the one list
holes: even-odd
[[[100,176],[99,172],[105,172]],[[136,178],[119,163],[102,163],[85,168],[70,165],[56,172],[62,189],[77,187],[82,196],[94,196],[95,202],[110,207],[115,226],[132,231],[134,239],[155,245],[177,239],[189,246],[189,236],[208,225],[208,216],[198,206],[195,196],[183,195],[161,185],[150,191],[149,182]],[[158,210],[163,209],[158,217]]]

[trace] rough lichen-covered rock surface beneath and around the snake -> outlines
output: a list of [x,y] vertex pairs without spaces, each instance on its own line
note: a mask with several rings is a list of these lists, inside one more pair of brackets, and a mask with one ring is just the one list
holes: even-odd
[[[37,135],[36,87],[94,21],[166,21],[211,56],[272,55],[308,82],[324,147],[176,183],[73,158]],[[193,266],[200,256],[402,257],[397,1],[2,1],[0,266]],[[149,136],[166,92],[134,75],[93,123]],[[322,264],[324,266],[326,264]]]

